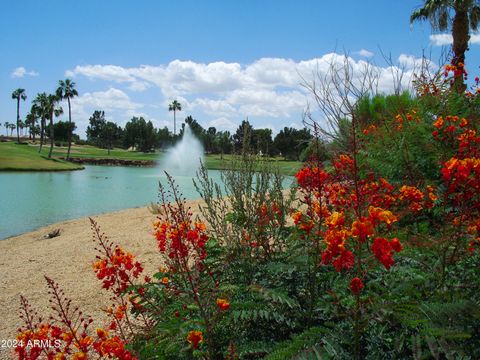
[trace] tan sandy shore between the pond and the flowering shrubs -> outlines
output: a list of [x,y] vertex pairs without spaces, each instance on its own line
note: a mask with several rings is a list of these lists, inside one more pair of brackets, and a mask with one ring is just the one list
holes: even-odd
[[[200,200],[189,202],[194,213],[198,212],[199,203]],[[147,207],[101,214],[93,218],[110,239],[138,256],[145,266],[145,274],[152,274],[161,265],[152,235],[155,215]],[[43,238],[57,228],[62,231],[59,237]],[[44,275],[56,280],[85,314],[100,320],[97,325],[102,324],[105,317],[101,308],[107,306],[109,300],[92,270],[94,259],[95,250],[88,217],[52,224],[1,240],[0,341],[14,339],[16,330],[21,325],[18,317],[20,295],[24,295],[39,313],[45,314],[44,317],[48,316]],[[0,359],[11,358],[7,349],[0,347]]]

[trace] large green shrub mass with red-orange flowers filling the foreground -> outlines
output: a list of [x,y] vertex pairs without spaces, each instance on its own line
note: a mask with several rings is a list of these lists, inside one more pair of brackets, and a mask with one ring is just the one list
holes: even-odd
[[202,169],[200,219],[168,176],[151,276],[92,220],[106,325],[91,329],[47,278],[53,314],[44,321],[21,298],[16,355],[480,358],[478,96],[451,94],[446,79],[465,71],[446,71],[416,98],[384,97],[396,113],[361,125],[352,114],[347,150],[305,163],[291,197],[278,173],[243,158],[224,172],[226,197]]

